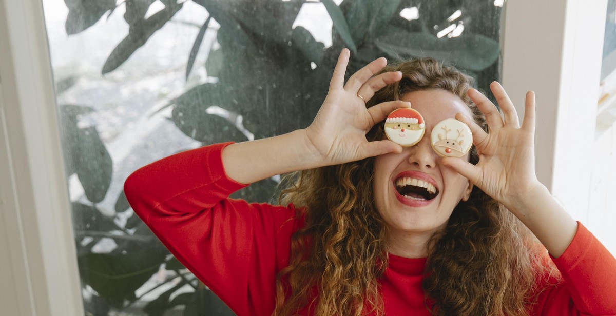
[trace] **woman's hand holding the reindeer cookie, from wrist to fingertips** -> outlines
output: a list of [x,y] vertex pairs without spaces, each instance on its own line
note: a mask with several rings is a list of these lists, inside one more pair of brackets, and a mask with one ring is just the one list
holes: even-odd
[[532,91],[526,94],[524,121],[520,126],[516,108],[503,86],[493,82],[490,89],[503,116],[485,95],[475,89],[468,91],[468,96],[485,115],[489,134],[471,118],[456,115],[456,119],[471,128],[479,163],[473,165],[460,158],[443,158],[442,163],[513,211],[526,202],[525,197],[543,186],[535,175],[535,94]]

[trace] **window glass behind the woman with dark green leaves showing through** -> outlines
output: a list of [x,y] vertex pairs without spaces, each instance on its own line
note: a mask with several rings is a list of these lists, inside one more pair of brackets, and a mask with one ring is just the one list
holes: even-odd
[[[151,161],[306,127],[342,47],[500,78],[503,0],[43,0],[87,315],[232,315],[123,194]],[[277,177],[235,197],[270,201]]]

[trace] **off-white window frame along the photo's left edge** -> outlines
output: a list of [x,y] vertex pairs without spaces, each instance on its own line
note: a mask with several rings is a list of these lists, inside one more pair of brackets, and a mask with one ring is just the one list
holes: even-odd
[[0,0],[0,314],[83,315],[40,0]]

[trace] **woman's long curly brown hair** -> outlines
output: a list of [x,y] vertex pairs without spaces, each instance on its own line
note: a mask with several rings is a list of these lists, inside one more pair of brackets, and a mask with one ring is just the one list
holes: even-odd
[[[484,115],[466,92],[472,78],[434,59],[389,65],[402,79],[376,92],[367,107],[409,92],[440,89],[468,105],[487,131]],[[383,139],[376,124],[368,140]],[[479,161],[474,146],[469,161]],[[305,225],[291,240],[290,264],[277,276],[274,315],[306,306],[314,315],[383,314],[378,278],[387,267],[387,225],[373,203],[374,158],[295,172],[285,177],[281,203],[297,206]],[[557,270],[519,219],[474,187],[453,210],[447,227],[427,245],[423,289],[432,315],[527,315],[539,280]],[[533,297],[535,294],[535,297]]]

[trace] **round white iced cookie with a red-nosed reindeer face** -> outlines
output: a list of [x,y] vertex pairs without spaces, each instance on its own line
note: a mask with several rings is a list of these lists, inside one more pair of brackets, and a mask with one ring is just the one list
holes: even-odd
[[455,118],[447,118],[432,128],[432,148],[443,157],[461,157],[472,146],[472,133],[468,125]]

